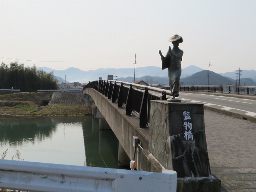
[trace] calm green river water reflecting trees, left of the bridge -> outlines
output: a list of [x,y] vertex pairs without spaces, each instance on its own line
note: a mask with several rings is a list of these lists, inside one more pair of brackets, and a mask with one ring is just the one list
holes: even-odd
[[116,136],[91,116],[0,116],[0,153],[7,148],[5,159],[18,150],[24,161],[119,168]]

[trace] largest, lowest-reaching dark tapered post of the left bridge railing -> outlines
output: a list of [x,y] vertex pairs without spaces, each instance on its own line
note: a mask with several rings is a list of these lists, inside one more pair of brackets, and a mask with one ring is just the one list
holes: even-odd
[[140,105],[140,113],[139,113],[139,126],[147,127],[147,99],[148,99],[148,89],[145,87],[142,96],[142,102]]

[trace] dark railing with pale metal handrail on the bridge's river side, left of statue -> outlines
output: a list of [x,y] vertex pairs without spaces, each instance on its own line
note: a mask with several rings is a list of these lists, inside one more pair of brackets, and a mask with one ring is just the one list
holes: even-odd
[[151,100],[166,100],[166,95],[171,96],[169,90],[111,80],[90,82],[84,86],[83,90],[89,87],[112,99],[118,107],[125,105],[126,115],[132,115],[132,112],[137,113],[139,127],[147,127],[150,122]]

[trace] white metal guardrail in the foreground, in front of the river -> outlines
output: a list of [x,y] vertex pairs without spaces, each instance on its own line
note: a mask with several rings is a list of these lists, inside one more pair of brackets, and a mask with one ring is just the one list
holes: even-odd
[[0,159],[0,188],[33,192],[176,192],[177,173]]

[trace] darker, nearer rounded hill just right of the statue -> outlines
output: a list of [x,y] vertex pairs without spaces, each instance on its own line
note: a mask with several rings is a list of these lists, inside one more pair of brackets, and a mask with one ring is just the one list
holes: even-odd
[[[180,82],[184,82],[185,85],[207,85],[208,83],[208,70],[203,70],[197,72],[187,78],[181,78]],[[225,78],[213,71],[210,71],[210,78],[209,78],[210,85],[227,85],[227,84],[234,84],[234,80],[230,80]]]

